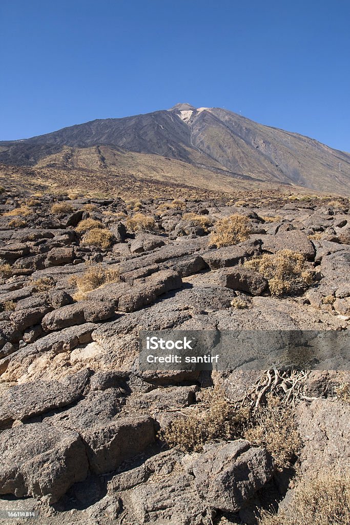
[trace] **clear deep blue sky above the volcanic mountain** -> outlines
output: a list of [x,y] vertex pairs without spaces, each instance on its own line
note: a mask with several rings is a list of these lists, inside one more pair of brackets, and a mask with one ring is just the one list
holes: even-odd
[[348,0],[0,0],[0,140],[225,107],[350,151]]

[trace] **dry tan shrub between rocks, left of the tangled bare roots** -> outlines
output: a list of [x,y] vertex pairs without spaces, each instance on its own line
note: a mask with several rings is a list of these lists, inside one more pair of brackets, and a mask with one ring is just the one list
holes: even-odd
[[246,420],[243,409],[235,409],[222,388],[208,388],[202,393],[203,403],[191,407],[188,415],[178,417],[164,432],[164,440],[170,446],[185,451],[200,450],[210,439],[234,439],[239,437]]

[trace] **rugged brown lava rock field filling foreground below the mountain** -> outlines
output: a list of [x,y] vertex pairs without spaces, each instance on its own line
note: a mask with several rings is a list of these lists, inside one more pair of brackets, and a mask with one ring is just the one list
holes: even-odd
[[[348,201],[4,193],[0,212],[0,510],[57,525],[248,524],[269,498],[285,502],[290,472],[263,446],[221,439],[188,454],[160,439],[206,387],[239,399],[259,374],[141,372],[138,331],[347,330]],[[232,214],[248,219],[248,238],[211,245]],[[312,282],[274,296],[243,263],[285,249]],[[348,381],[307,375],[300,476],[349,468],[350,405],[335,395]]]

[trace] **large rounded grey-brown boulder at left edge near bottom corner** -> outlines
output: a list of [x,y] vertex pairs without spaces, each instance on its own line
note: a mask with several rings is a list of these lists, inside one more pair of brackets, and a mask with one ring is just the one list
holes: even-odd
[[55,503],[88,474],[76,432],[44,423],[19,425],[0,434],[0,494],[45,497]]

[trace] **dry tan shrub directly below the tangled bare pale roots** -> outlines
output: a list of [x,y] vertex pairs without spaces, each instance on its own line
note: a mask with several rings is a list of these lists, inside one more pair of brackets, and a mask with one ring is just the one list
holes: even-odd
[[279,469],[289,467],[301,447],[292,407],[272,394],[267,396],[266,405],[251,415],[244,437],[254,445],[264,446]]

